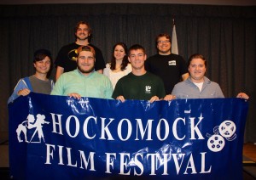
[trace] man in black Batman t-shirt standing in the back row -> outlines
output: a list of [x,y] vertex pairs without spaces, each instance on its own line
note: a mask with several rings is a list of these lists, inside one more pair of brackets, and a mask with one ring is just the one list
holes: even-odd
[[96,46],[90,44],[90,40],[92,37],[92,31],[90,25],[87,22],[79,21],[79,23],[75,27],[75,37],[76,42],[63,46],[59,51],[57,58],[55,59],[56,69],[56,81],[61,76],[63,72],[68,72],[71,70],[75,70],[77,68],[76,64],[76,50],[80,46],[87,46],[95,49],[96,52],[96,64],[95,70],[102,73],[103,69],[106,67],[105,61],[102,56],[102,51]]

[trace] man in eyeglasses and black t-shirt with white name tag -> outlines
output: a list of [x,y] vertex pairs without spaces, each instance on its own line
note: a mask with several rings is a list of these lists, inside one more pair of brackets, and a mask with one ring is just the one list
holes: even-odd
[[158,53],[146,60],[145,69],[160,76],[165,84],[166,94],[171,94],[177,82],[189,77],[186,62],[180,55],[171,53],[171,37],[168,34],[158,35],[155,43]]

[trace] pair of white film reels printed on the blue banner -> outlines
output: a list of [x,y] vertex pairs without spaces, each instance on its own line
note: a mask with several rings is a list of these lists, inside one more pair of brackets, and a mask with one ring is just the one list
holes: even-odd
[[230,120],[223,121],[219,126],[213,128],[213,132],[214,135],[212,136],[207,134],[209,138],[207,147],[212,150],[212,152],[218,152],[224,148],[225,139],[233,141],[236,138],[236,124]]

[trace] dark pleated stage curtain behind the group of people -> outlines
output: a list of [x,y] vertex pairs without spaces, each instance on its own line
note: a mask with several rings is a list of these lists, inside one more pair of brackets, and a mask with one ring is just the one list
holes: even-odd
[[[179,54],[207,58],[207,76],[218,82],[226,97],[248,93],[246,141],[256,142],[255,85],[256,7],[178,4],[43,4],[0,6],[0,131],[8,132],[7,99],[20,77],[34,73],[32,54],[49,48],[55,58],[61,46],[74,42],[74,26],[86,20],[92,43],[102,49],[106,63],[116,42],[142,44],[156,53],[154,39],[177,28]],[[55,70],[52,78],[55,76]]]

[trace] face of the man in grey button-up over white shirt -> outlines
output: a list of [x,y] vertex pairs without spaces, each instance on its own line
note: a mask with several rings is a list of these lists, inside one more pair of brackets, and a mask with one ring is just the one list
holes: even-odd
[[203,82],[207,67],[205,61],[201,58],[195,58],[190,61],[189,74],[192,82]]

